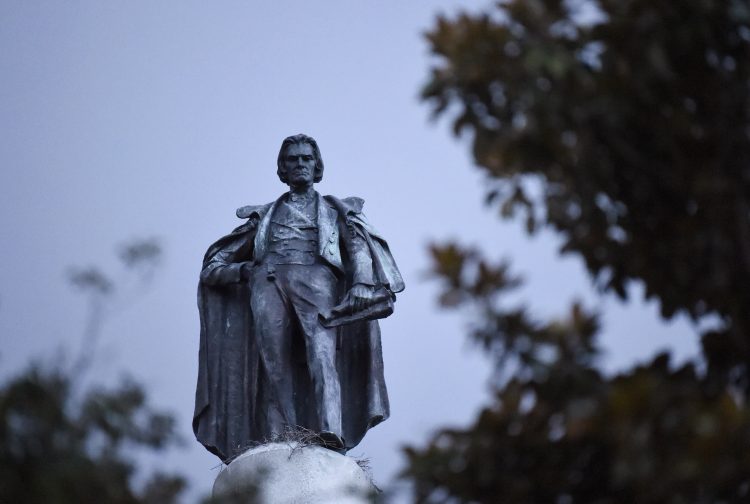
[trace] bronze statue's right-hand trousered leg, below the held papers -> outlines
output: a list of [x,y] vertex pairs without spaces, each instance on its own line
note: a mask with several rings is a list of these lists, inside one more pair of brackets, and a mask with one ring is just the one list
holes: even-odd
[[342,437],[341,385],[336,369],[336,329],[318,321],[338,301],[338,279],[325,265],[299,266],[289,276],[290,299],[305,338],[307,366],[315,390],[321,431]]

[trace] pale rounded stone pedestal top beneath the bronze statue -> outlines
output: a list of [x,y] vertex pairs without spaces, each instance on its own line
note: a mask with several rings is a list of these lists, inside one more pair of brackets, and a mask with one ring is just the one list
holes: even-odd
[[263,504],[364,504],[375,491],[351,457],[320,446],[270,443],[246,451],[225,467],[213,495],[233,503],[245,502],[245,497]]

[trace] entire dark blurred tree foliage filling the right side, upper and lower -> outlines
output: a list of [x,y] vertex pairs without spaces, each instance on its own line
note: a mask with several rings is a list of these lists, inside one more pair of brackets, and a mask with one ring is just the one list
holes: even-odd
[[546,227],[603,292],[718,321],[703,358],[606,376],[595,314],[502,302],[507,264],[435,246],[495,395],[410,448],[424,502],[745,502],[750,492],[750,4],[508,0],[440,17],[423,98],[468,134],[487,201]]

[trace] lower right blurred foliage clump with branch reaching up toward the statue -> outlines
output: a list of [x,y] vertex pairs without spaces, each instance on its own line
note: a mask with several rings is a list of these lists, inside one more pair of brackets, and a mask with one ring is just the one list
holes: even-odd
[[750,499],[750,408],[735,388],[692,363],[670,366],[668,354],[607,376],[596,314],[573,303],[534,320],[502,302],[518,285],[506,264],[456,244],[431,252],[441,301],[474,314],[471,338],[496,368],[473,424],[406,448],[416,502]]

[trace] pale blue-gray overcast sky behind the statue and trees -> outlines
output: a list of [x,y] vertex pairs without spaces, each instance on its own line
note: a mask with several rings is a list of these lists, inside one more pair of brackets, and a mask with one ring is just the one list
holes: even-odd
[[[477,9],[487,2],[460,2]],[[661,324],[638,287],[627,306],[597,298],[552,234],[484,208],[483,178],[447,123],[420,103],[422,36],[459,2],[25,1],[0,3],[0,376],[61,345],[74,352],[85,300],[71,266],[115,270],[115,248],[157,237],[151,287],[106,321],[92,376],[130,374],[174,412],[185,450],[163,465],[206,492],[217,459],[192,437],[197,275],[203,253],[239,224],[234,210],[275,199],[281,140],[318,140],[324,194],[357,195],[388,238],[407,289],[383,321],[392,418],[351,454],[387,485],[399,446],[468,422],[488,365],[440,313],[425,280],[430,240],[460,238],[507,257],[540,316],[573,297],[603,313],[609,370],[671,347],[697,348],[689,324]]]

